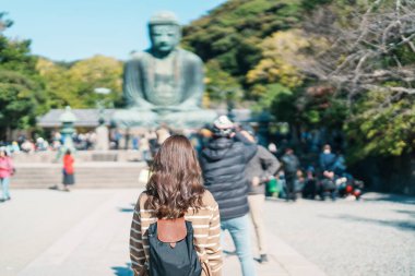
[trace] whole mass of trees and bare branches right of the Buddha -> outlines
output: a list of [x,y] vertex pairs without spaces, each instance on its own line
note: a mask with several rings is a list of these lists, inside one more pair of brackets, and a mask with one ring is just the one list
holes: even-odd
[[254,111],[343,129],[354,160],[415,149],[412,0],[230,0],[185,27],[183,45]]

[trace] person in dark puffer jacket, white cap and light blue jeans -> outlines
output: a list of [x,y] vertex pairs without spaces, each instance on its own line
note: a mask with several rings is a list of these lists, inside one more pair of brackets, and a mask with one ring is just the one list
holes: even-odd
[[200,163],[204,185],[220,206],[221,228],[228,230],[244,276],[256,276],[248,220],[248,180],[245,169],[257,152],[256,144],[242,143],[234,123],[221,116],[213,125],[213,139],[202,151]]

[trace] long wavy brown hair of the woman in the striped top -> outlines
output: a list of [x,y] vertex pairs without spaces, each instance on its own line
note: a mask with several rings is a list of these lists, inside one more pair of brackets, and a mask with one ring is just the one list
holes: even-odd
[[168,137],[158,149],[146,184],[147,206],[158,218],[182,217],[202,205],[204,187],[197,154],[183,135]]

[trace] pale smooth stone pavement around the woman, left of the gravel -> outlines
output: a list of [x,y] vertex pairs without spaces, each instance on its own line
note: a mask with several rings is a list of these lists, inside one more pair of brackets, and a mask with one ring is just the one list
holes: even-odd
[[[140,190],[12,190],[0,204],[1,276],[130,276],[129,230]],[[276,236],[268,233],[270,262],[258,275],[324,275]],[[226,251],[233,251],[226,239]],[[241,275],[225,255],[223,275]]]

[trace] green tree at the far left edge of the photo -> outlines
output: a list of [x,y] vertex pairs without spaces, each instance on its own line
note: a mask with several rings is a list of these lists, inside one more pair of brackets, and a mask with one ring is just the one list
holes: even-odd
[[29,40],[10,39],[3,31],[12,25],[0,13],[0,133],[10,129],[27,129],[36,116],[48,109],[44,83],[36,71],[36,57]]

